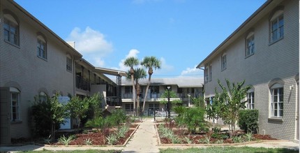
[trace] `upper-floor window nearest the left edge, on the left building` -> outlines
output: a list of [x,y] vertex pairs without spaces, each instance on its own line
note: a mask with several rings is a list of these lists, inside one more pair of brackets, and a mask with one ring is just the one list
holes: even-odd
[[4,15],[4,40],[13,45],[19,45],[19,24],[11,15]]

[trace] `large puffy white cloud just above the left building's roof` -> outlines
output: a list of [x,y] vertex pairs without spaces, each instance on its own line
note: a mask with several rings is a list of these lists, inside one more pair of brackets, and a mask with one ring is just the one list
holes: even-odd
[[75,49],[82,53],[97,53],[98,56],[105,56],[113,51],[112,43],[105,40],[105,36],[87,27],[84,31],[75,27],[67,38],[67,41],[75,41]]

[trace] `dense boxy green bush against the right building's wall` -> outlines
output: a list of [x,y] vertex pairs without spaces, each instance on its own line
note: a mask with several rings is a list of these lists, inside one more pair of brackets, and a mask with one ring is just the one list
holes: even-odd
[[246,133],[257,133],[258,110],[239,110],[239,128]]

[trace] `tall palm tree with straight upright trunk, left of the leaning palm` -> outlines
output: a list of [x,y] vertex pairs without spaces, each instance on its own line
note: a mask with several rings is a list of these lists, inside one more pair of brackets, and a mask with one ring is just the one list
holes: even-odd
[[128,57],[124,61],[124,65],[130,67],[130,76],[131,76],[131,82],[133,83],[133,112],[135,115],[135,70],[133,69],[134,66],[137,66],[139,64],[139,59],[135,57]]

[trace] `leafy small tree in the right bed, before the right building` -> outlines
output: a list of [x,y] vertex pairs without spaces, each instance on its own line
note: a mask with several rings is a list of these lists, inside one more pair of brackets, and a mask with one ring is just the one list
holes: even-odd
[[231,84],[227,79],[225,79],[225,81],[228,91],[226,87],[221,84],[220,80],[218,80],[218,85],[222,89],[222,92],[216,92],[216,101],[218,101],[220,105],[220,117],[222,117],[225,124],[231,124],[233,133],[239,110],[246,108],[246,101],[243,99],[245,99],[250,86],[247,85],[243,87],[245,80],[238,82],[237,85],[234,82]]

